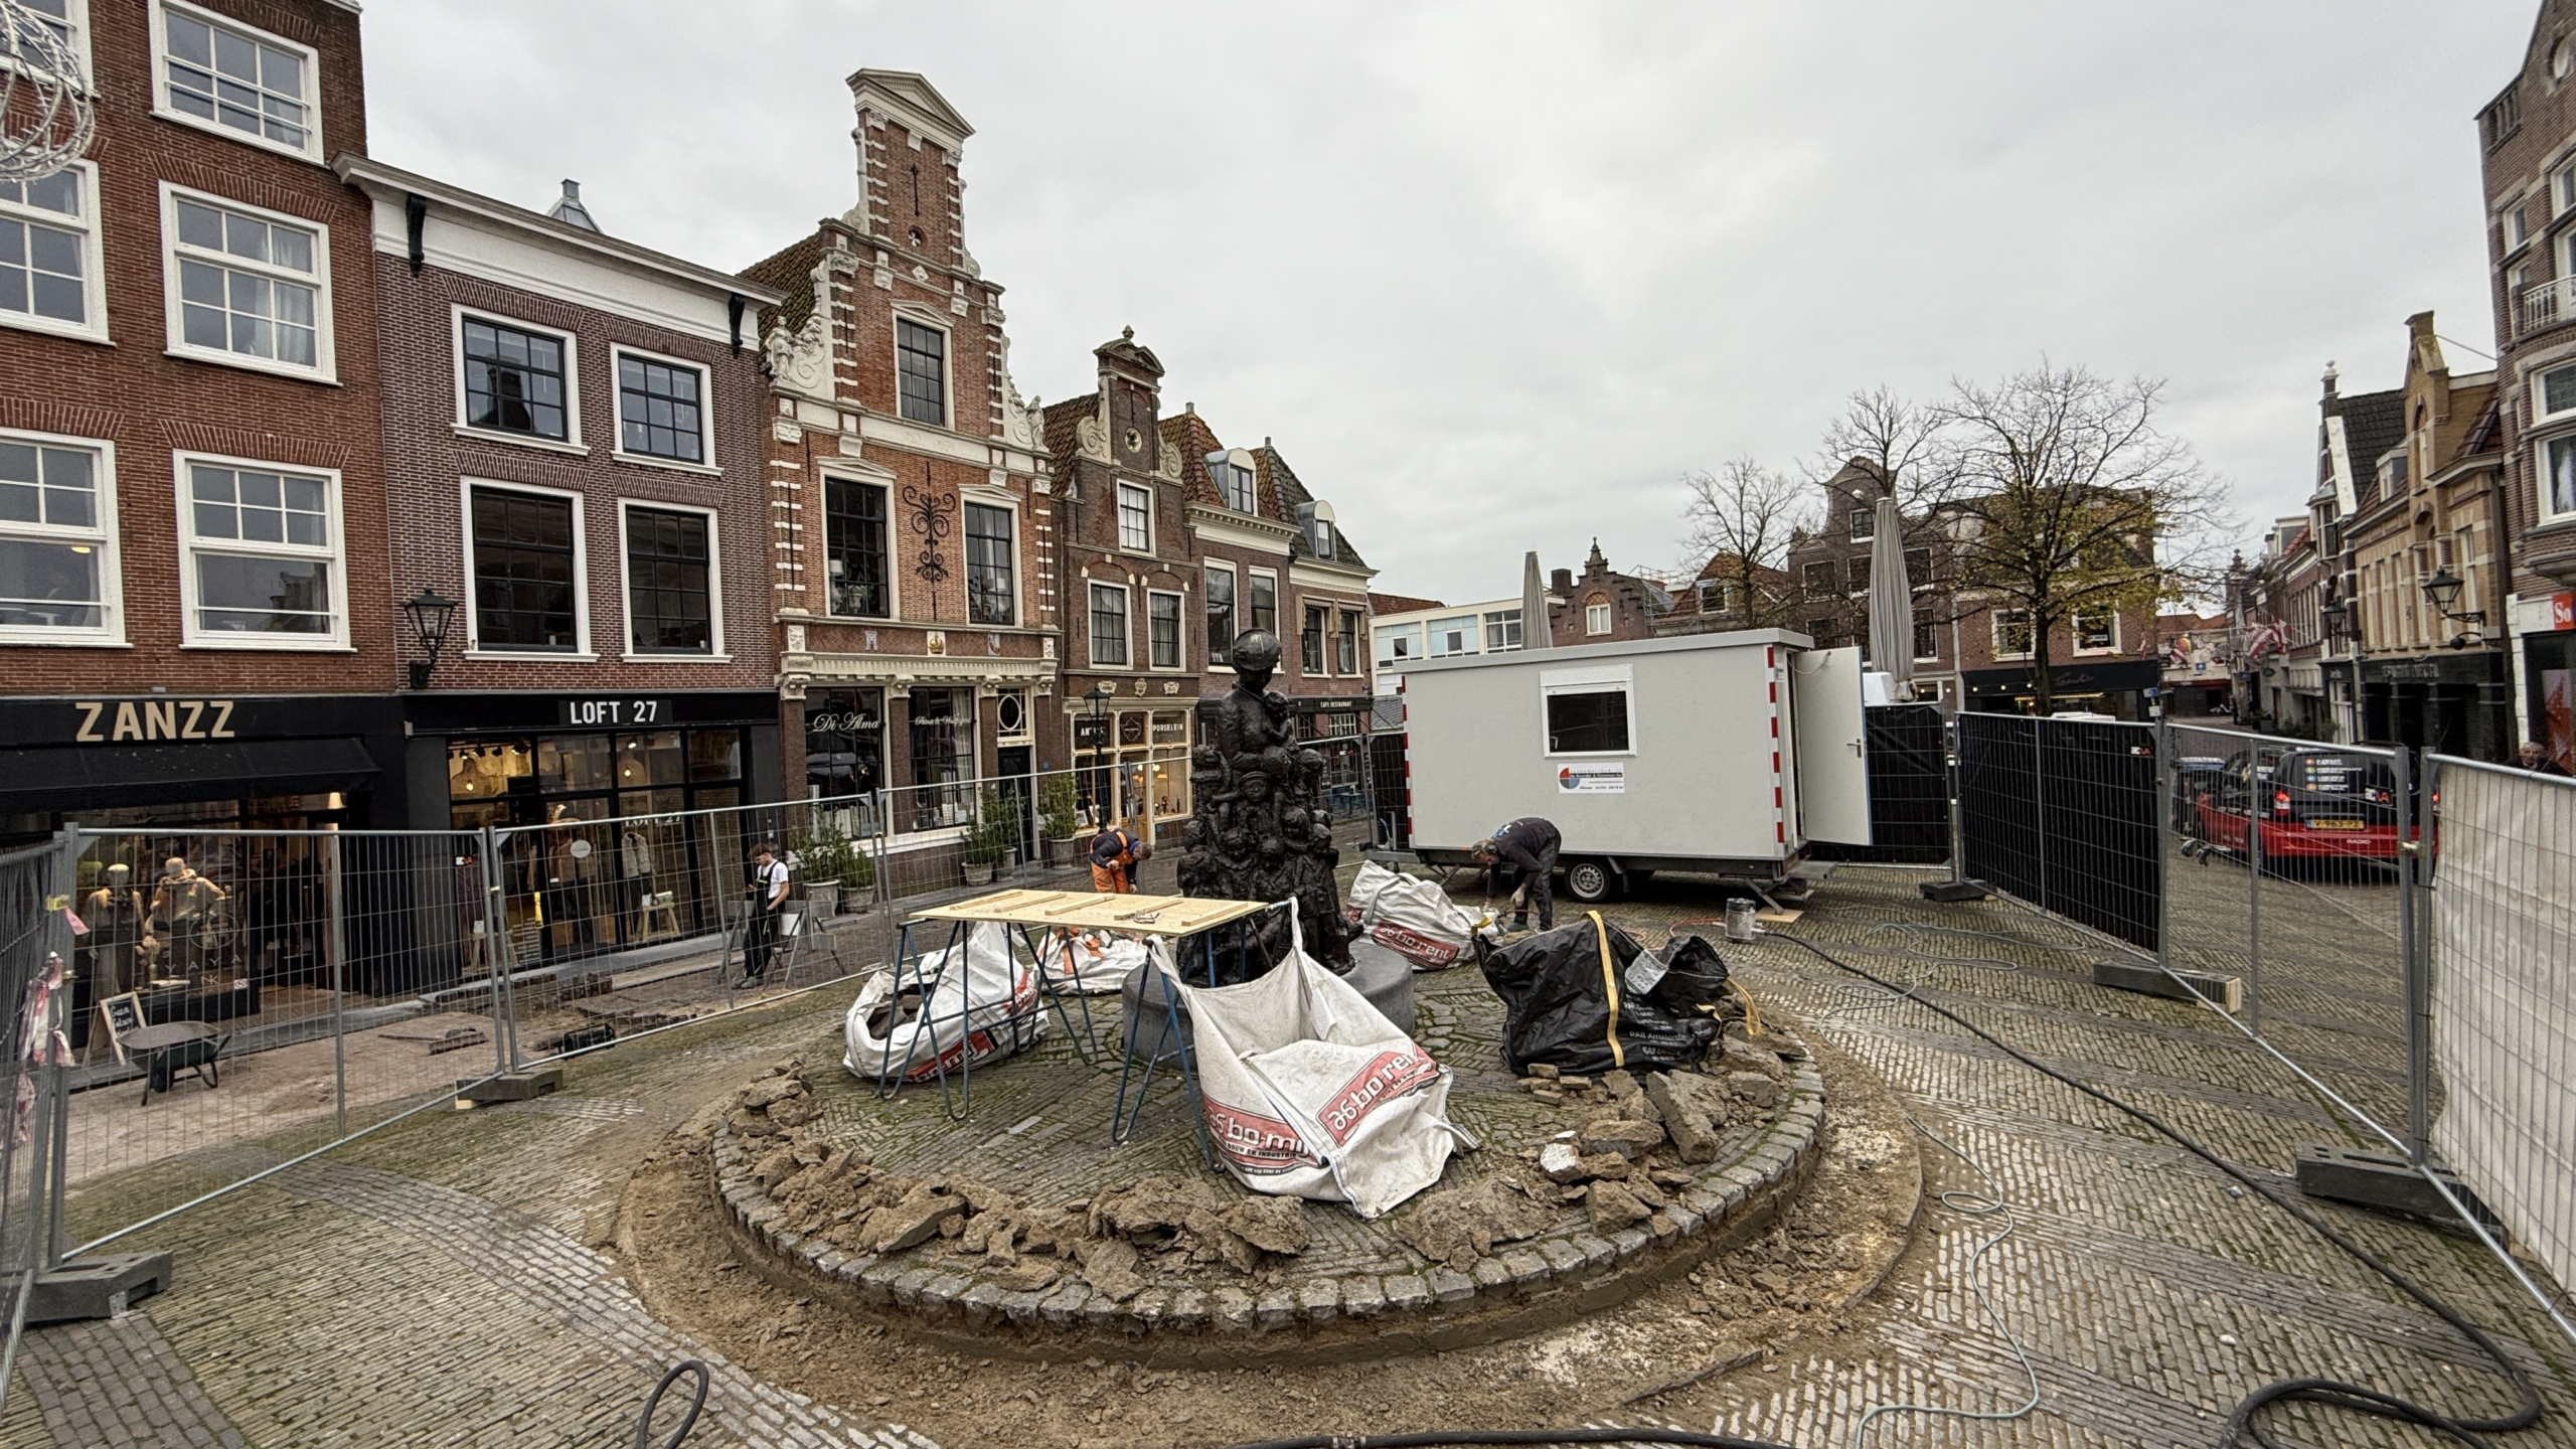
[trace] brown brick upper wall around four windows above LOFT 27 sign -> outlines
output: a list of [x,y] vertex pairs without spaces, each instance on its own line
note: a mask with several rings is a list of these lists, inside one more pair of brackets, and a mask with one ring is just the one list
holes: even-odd
[[[376,255],[374,263],[386,345],[384,438],[394,477],[392,529],[404,541],[392,565],[386,598],[410,598],[422,585],[448,598],[471,598],[459,477],[526,482],[582,495],[585,603],[590,652],[598,660],[469,660],[461,647],[466,611],[459,611],[451,627],[456,645],[440,657],[433,688],[770,688],[778,670],[768,608],[770,508],[762,485],[770,405],[757,348],[744,345],[739,356],[732,356],[724,343],[435,266],[412,276],[404,258]],[[582,443],[590,456],[456,433],[456,304],[574,338],[572,364],[580,376]],[[721,477],[621,462],[611,454],[618,436],[611,348],[618,343],[706,364],[714,415],[711,446],[716,467],[724,469]],[[626,500],[716,511],[724,655],[729,663],[621,657],[629,632],[618,511]]]

